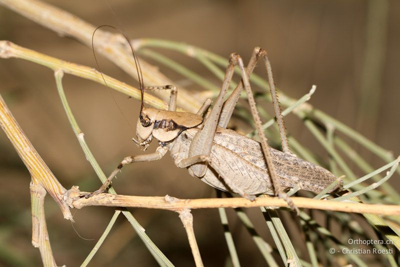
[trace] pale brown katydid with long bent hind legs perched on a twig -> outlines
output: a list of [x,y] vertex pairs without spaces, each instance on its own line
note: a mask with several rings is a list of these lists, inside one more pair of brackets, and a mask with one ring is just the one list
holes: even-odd
[[[127,38],[126,40],[129,43]],[[284,193],[284,189],[301,184],[302,189],[319,193],[336,180],[336,177],[328,170],[299,159],[290,152],[271,66],[265,50],[255,48],[246,68],[239,55],[230,55],[221,91],[206,116],[211,104],[209,99],[204,102],[196,114],[177,112],[177,89],[175,86],[144,87],[139,62],[132,46],[130,49],[141,90],[141,108],[136,125],[137,140],[133,138],[133,141],[138,147],[145,150],[155,138],[158,140],[159,146],[155,152],[150,154],[125,157],[109,175],[106,182],[98,190],[85,195],[85,197],[104,192],[111,179],[124,165],[159,160],[167,151],[170,152],[177,167],[187,168],[190,175],[200,178],[212,187],[238,193],[249,199],[254,199],[254,195],[261,193],[275,194],[285,199],[292,209],[295,207]],[[268,146],[252,96],[248,77],[259,59],[266,67],[272,104],[284,152]],[[227,100],[223,101],[236,65],[240,69],[242,79]],[[260,142],[226,129],[243,88],[247,93]],[[154,89],[170,90],[168,110],[144,107],[144,90]],[[339,183],[329,193],[339,191],[341,187],[342,183]]]

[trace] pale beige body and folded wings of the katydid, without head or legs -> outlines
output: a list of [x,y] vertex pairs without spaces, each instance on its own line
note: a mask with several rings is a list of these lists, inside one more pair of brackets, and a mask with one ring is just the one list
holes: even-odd
[[[176,165],[181,159],[188,157],[191,140],[198,130],[198,128],[187,129],[166,144]],[[273,148],[269,148],[269,151],[283,189],[301,183],[302,189],[319,193],[327,184],[336,180],[332,173],[318,165]],[[223,166],[225,174],[230,176],[220,177],[212,167],[208,166],[204,176],[198,178],[210,186],[223,191],[232,191],[223,182],[224,178],[229,178],[246,195],[274,193],[259,142],[235,131],[217,127],[209,157],[215,164]],[[188,171],[191,176],[197,177],[189,168]],[[339,184],[329,192],[336,191],[340,187]]]

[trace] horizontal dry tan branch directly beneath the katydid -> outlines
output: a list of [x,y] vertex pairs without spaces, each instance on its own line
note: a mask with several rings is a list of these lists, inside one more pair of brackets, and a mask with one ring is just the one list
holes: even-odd
[[[184,208],[219,208],[219,207],[287,207],[287,203],[276,197],[256,198],[253,201],[241,197],[235,198],[199,198],[178,199],[170,201],[169,197],[161,196],[127,196],[113,194],[99,194],[89,198],[79,198],[86,192],[79,192],[77,188],[71,191],[71,206],[82,208],[85,206],[118,206],[157,208],[172,211],[180,211]],[[165,199],[167,198],[167,199]],[[306,197],[293,197],[293,203],[299,208],[312,208],[354,213],[370,213],[380,215],[400,215],[400,205],[363,204],[352,201],[337,202],[316,200]]]

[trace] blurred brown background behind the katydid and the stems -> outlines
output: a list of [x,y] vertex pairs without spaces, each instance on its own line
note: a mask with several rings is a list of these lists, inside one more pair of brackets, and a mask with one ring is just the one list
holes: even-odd
[[[359,130],[394,155],[400,151],[400,3],[397,1],[109,1],[115,14],[105,1],[47,2],[93,25],[122,25],[122,30],[131,38],[182,41],[226,58],[237,52],[245,62],[255,46],[263,47],[268,51],[275,84],[280,90],[299,98],[316,84],[317,91],[309,101],[312,105]],[[1,40],[95,67],[91,48],[59,37],[3,7],[0,7],[0,24]],[[177,53],[159,52],[215,81],[194,60]],[[103,58],[100,66],[104,73],[137,86]],[[160,70],[176,85],[196,89],[171,71]],[[256,73],[265,76],[263,68]],[[100,182],[64,115],[52,71],[22,60],[0,60],[0,80],[1,95],[63,186],[96,189]],[[131,142],[134,133],[118,111],[110,90],[68,75],[64,76],[64,89],[86,142],[106,174],[124,156],[141,153]],[[134,125],[139,103],[117,93],[113,97]],[[327,158],[301,121],[287,116],[286,125],[304,145]],[[383,165],[352,144],[373,167]],[[152,149],[154,145],[148,151]],[[0,265],[40,265],[39,251],[30,244],[29,174],[2,133],[0,151]],[[396,178],[393,176],[390,182],[398,188]],[[186,170],[176,168],[169,156],[159,162],[126,167],[113,185],[121,194],[214,196],[212,188],[190,177]],[[83,238],[94,239],[84,240],[69,221],[62,219],[54,202],[49,197],[47,200],[46,218],[56,262],[78,265],[101,235],[113,209],[90,207],[73,211],[76,232]],[[132,211],[174,264],[192,265],[184,229],[176,214],[145,209]],[[262,236],[270,240],[258,210],[248,213]],[[205,265],[223,265],[227,248],[217,210],[196,210],[193,215]],[[248,233],[231,217],[230,226],[243,265],[264,264]],[[301,243],[295,244],[299,246]],[[91,265],[111,262],[115,266],[156,265],[122,216]]]

